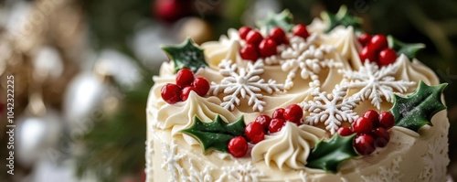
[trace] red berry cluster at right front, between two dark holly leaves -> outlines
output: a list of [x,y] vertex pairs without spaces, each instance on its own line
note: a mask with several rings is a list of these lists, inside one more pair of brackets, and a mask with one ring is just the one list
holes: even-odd
[[390,134],[388,130],[394,126],[394,116],[390,112],[378,114],[368,110],[362,117],[352,123],[352,127],[344,126],[338,129],[338,134],[347,136],[356,133],[354,146],[360,155],[371,155],[376,147],[388,145]]

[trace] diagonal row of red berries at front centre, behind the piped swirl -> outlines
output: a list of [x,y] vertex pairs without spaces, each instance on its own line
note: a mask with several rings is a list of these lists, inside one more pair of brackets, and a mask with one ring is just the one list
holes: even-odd
[[244,156],[248,152],[248,141],[257,144],[265,139],[265,134],[280,131],[286,122],[302,124],[302,118],[303,110],[297,104],[292,104],[286,109],[275,110],[272,118],[265,114],[259,115],[254,122],[249,123],[244,129],[244,134],[248,140],[243,136],[232,138],[228,142],[228,152],[235,157]]

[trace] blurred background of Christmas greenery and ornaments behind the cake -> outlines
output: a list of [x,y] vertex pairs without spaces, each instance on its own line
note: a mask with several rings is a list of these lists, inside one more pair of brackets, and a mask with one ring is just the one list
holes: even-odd
[[[160,45],[216,40],[288,8],[295,23],[346,5],[371,34],[427,48],[448,82],[449,173],[457,179],[457,1],[0,0],[0,181],[144,180],[145,104]],[[14,176],[6,173],[7,77],[14,76]]]

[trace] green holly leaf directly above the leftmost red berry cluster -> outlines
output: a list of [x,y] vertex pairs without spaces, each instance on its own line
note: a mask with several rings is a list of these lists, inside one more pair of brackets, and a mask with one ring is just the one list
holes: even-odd
[[187,68],[195,73],[198,69],[207,67],[203,49],[199,48],[190,37],[179,45],[164,46],[162,49],[175,63],[175,72]]

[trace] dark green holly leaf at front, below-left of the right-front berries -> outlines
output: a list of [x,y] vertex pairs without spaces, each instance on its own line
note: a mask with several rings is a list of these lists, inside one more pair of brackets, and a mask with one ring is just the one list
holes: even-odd
[[327,142],[321,140],[308,156],[306,166],[336,173],[341,163],[358,156],[353,145],[354,138],[356,134],[350,136],[335,134]]

